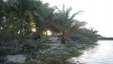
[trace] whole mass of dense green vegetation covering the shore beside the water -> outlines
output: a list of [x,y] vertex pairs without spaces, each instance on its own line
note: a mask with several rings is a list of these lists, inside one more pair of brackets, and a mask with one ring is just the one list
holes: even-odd
[[[27,55],[26,64],[64,64],[79,49],[95,44],[97,31],[84,28],[71,8],[50,7],[39,0],[0,0],[0,57]],[[50,44],[47,30],[60,44]]]

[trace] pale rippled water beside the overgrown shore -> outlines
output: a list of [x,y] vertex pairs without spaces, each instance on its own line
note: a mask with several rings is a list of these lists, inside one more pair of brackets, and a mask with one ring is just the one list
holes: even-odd
[[113,41],[98,41],[98,45],[83,52],[78,58],[73,58],[78,64],[113,64]]

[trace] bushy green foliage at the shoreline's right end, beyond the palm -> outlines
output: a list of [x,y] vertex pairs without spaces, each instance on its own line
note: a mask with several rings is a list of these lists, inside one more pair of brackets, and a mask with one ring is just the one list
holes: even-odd
[[80,44],[92,45],[96,44],[97,34],[90,29],[82,28],[79,31],[72,33],[70,36],[73,40],[78,41]]

